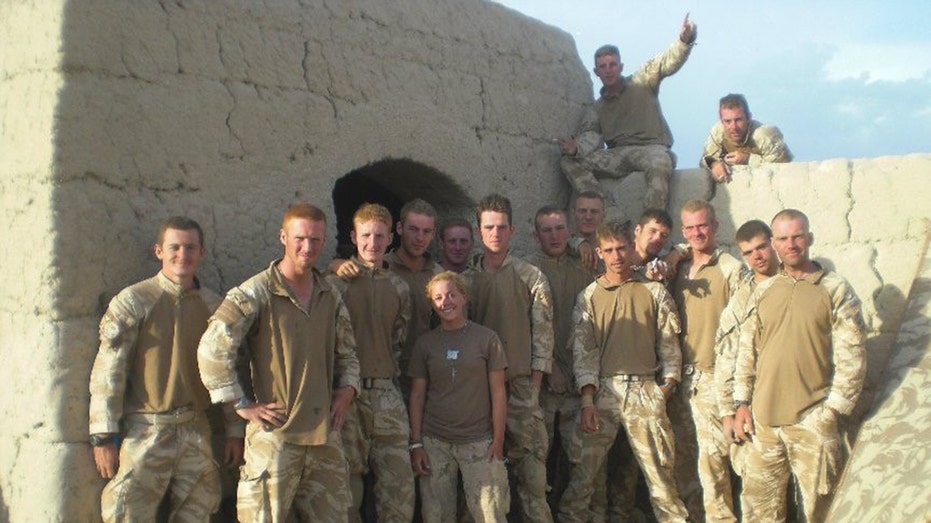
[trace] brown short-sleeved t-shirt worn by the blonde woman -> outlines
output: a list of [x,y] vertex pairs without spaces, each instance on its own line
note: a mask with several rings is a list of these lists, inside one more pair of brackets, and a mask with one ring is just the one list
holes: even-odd
[[474,322],[454,331],[437,327],[421,336],[408,375],[427,380],[423,433],[454,444],[491,437],[488,373],[505,368],[498,335]]

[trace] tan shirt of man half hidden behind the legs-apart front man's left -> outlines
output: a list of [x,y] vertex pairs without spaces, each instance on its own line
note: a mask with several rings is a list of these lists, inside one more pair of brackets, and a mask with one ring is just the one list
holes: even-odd
[[550,284],[553,296],[553,363],[563,376],[572,377],[572,310],[579,293],[595,279],[595,275],[582,267],[577,257],[564,254],[558,258],[535,252],[530,263],[539,267]]

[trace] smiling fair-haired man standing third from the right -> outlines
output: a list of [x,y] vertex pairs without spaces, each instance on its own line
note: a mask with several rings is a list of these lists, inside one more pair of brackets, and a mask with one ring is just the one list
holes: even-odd
[[672,295],[682,321],[682,384],[670,401],[676,433],[679,494],[694,521],[736,521],[730,451],[714,388],[718,320],[741,278],[741,263],[718,248],[714,207],[704,200],[682,206],[682,235],[690,257],[679,264]]

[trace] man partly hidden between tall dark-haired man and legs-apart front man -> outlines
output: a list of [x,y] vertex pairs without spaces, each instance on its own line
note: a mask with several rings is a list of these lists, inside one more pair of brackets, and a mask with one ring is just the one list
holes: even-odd
[[[540,406],[546,421],[550,454],[556,453],[556,468],[552,471],[553,494],[558,506],[559,496],[568,479],[568,459],[565,449],[575,430],[579,412],[579,396],[572,384],[572,307],[575,299],[595,276],[582,268],[577,257],[568,254],[569,236],[566,211],[551,205],[541,207],[533,220],[533,236],[540,250],[529,259],[543,271],[553,293],[553,368],[540,392]],[[559,428],[561,445],[554,447],[555,429]]]

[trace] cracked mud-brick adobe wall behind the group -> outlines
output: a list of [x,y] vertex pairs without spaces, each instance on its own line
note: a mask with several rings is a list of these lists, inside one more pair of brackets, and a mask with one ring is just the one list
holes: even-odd
[[[589,82],[567,34],[479,0],[0,0],[0,521],[98,520],[97,323],[157,270],[163,218],[205,226],[201,276],[222,291],[279,253],[288,203],[335,216],[353,174],[447,214],[510,195],[527,252],[533,210],[568,199],[551,139]],[[745,174],[717,188],[722,237],[808,211],[816,255],[866,304],[875,383],[925,249],[931,156]],[[711,189],[680,171],[670,206]]]

